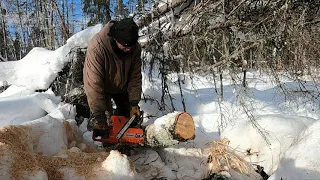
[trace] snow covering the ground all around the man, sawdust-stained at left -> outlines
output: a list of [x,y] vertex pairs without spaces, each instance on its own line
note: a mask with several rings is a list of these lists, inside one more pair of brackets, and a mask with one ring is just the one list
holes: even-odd
[[[17,173],[25,179],[51,179],[48,162],[60,172],[55,176],[66,179],[201,179],[208,173],[204,149],[223,138],[236,154],[264,167],[270,179],[320,177],[319,101],[306,101],[298,93],[284,94],[268,75],[255,71],[248,72],[246,89],[240,83],[234,85],[226,72],[221,103],[211,75],[179,75],[185,79],[182,91],[187,112],[195,121],[192,141],[160,149],[140,148],[131,157],[90,149],[83,143],[93,143],[87,120],[76,126],[75,107],[60,102],[50,89],[35,90],[47,89],[68,61],[70,49],[85,47],[101,28],[81,31],[55,51],[34,48],[19,61],[0,62],[0,86],[10,85],[0,94],[0,179],[17,177]],[[170,93],[175,107],[182,111],[177,79],[177,74],[170,75]],[[286,76],[281,80],[289,90],[299,87]],[[306,78],[304,85],[319,96],[317,81]],[[143,74],[143,92],[160,100],[161,80],[153,76],[151,83]],[[156,103],[141,101],[140,106],[146,115],[155,117],[145,119],[144,124],[168,113]],[[30,163],[33,168],[24,166]]]

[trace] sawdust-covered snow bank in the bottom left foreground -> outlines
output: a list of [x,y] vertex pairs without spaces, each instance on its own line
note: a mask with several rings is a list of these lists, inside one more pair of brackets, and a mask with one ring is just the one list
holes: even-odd
[[134,179],[127,156],[97,152],[83,143],[75,120],[52,117],[67,117],[64,108],[0,129],[0,179]]

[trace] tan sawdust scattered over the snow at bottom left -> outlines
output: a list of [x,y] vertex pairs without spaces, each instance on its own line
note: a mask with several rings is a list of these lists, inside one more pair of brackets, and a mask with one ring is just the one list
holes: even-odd
[[63,152],[64,156],[43,156],[33,152],[39,137],[32,137],[27,126],[6,126],[0,129],[0,156],[10,164],[11,178],[22,179],[23,172],[44,171],[48,179],[62,179],[62,168],[74,168],[76,175],[94,179],[94,169],[108,157],[108,152]]

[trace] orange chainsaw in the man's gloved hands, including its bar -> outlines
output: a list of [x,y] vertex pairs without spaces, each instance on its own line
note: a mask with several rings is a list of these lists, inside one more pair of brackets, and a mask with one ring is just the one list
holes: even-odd
[[[111,126],[106,129],[103,137],[97,137],[93,131],[92,139],[102,142],[104,145],[130,144],[144,145],[144,130],[141,127],[143,120],[143,111],[137,115],[133,115],[130,119],[125,116],[112,115]],[[107,122],[108,123],[108,122]],[[109,123],[110,124],[110,123]]]

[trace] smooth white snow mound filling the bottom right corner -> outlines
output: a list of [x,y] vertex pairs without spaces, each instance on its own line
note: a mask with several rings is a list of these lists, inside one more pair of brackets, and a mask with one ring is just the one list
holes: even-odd
[[294,139],[283,155],[273,179],[319,179],[320,121],[314,122]]

